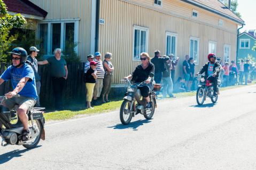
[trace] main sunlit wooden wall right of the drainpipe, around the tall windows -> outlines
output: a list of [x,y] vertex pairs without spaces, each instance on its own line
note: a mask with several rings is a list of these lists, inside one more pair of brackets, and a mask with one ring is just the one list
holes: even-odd
[[196,70],[207,61],[209,41],[217,42],[218,56],[223,56],[224,44],[230,45],[231,59],[235,59],[236,31],[225,31],[119,0],[101,1],[100,18],[105,19],[105,25],[99,26],[99,51],[113,53],[115,84],[119,84],[120,79],[140,63],[133,61],[134,26],[149,28],[148,52],[151,57],[154,50],[166,53],[166,31],[177,34],[177,56],[181,60],[176,68],[176,77],[182,74],[181,65],[184,55],[189,54],[190,37],[199,38]]

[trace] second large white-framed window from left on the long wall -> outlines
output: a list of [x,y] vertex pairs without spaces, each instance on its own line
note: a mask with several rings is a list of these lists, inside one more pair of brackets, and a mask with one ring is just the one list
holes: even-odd
[[166,33],[166,55],[174,54],[176,56],[177,51],[177,34]]

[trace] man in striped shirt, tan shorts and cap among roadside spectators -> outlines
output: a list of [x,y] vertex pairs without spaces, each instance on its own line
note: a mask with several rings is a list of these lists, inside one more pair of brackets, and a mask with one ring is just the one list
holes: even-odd
[[97,106],[97,105],[99,105],[99,103],[97,102],[97,98],[99,98],[100,93],[102,92],[103,78],[105,75],[105,70],[103,68],[102,60],[100,60],[102,54],[100,54],[100,52],[96,52],[94,56],[95,56],[94,61],[97,63],[97,66],[96,66],[97,81],[94,86],[94,94],[93,94],[94,100],[92,100],[92,104],[94,106]]

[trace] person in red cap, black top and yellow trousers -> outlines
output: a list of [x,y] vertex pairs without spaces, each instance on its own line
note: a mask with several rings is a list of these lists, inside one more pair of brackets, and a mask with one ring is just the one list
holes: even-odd
[[94,86],[97,79],[97,70],[96,70],[97,63],[95,61],[90,62],[90,68],[86,72],[86,89],[87,89],[87,108],[93,109],[91,107],[91,100],[92,94],[94,93]]

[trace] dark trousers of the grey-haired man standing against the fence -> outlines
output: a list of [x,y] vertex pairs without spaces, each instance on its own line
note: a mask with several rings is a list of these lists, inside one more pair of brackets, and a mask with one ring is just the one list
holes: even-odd
[[53,95],[55,96],[55,109],[63,109],[63,89],[65,85],[65,78],[52,77]]

